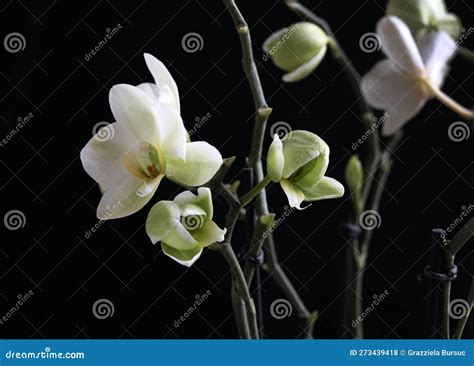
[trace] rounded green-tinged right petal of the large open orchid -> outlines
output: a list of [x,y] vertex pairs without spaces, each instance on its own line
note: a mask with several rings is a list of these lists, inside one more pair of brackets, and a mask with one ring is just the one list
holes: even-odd
[[207,183],[222,165],[221,153],[204,141],[186,144],[186,159],[166,161],[166,175],[185,186],[197,187]]

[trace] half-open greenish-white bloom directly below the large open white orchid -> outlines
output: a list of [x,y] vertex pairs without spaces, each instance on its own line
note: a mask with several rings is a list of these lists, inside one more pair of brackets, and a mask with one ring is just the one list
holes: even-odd
[[190,267],[203,248],[224,240],[226,229],[212,221],[213,205],[209,188],[178,194],[173,201],[155,204],[146,221],[146,232],[153,244],[161,241],[163,253]]

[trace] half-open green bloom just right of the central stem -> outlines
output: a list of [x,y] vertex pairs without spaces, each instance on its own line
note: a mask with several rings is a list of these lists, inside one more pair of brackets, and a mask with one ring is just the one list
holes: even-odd
[[344,186],[326,177],[329,146],[308,131],[292,131],[280,140],[275,134],[268,149],[267,170],[279,182],[291,207],[301,209],[303,201],[339,198]]

